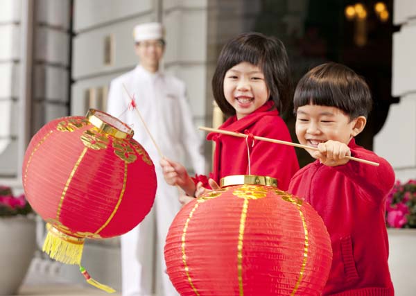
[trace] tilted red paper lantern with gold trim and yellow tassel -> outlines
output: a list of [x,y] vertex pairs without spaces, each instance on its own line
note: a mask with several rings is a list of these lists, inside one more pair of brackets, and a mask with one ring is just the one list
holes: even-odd
[[124,234],[150,211],[155,166],[132,136],[125,123],[89,110],[47,123],[29,143],[23,186],[47,222],[51,258],[79,265],[85,238]]

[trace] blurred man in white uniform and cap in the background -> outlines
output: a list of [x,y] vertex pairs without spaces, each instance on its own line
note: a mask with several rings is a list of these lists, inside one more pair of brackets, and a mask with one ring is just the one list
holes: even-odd
[[163,250],[168,227],[180,209],[178,190],[164,181],[157,148],[137,112],[128,107],[130,98],[123,85],[134,96],[137,109],[164,156],[182,161],[186,157],[196,173],[204,173],[205,160],[184,83],[159,71],[165,48],[162,24],[140,24],[135,27],[134,36],[140,64],[112,80],[107,112],[135,130],[134,138],[155,164],[157,193],[153,209],[144,221],[121,237],[123,296],[171,296],[177,292],[166,275]]

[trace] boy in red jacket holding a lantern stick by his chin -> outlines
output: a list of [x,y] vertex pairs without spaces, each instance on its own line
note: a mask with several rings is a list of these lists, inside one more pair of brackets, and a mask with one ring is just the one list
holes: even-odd
[[293,176],[288,191],[318,211],[331,236],[333,263],[322,295],[394,295],[384,217],[395,173],[354,141],[372,107],[370,89],[352,69],[327,63],[306,73],[293,101],[297,139],[318,151],[308,150],[317,160]]

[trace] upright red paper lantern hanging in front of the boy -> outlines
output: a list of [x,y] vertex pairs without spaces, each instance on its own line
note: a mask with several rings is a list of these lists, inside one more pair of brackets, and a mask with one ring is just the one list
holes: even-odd
[[273,178],[221,182],[183,207],[169,229],[164,255],[180,295],[320,295],[332,249],[316,211]]

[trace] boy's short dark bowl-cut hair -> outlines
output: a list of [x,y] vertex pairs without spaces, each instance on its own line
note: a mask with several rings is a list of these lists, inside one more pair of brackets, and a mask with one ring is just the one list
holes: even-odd
[[361,76],[343,64],[328,62],[311,69],[297,84],[293,111],[296,114],[298,107],[309,104],[337,107],[350,119],[367,118],[372,98]]

